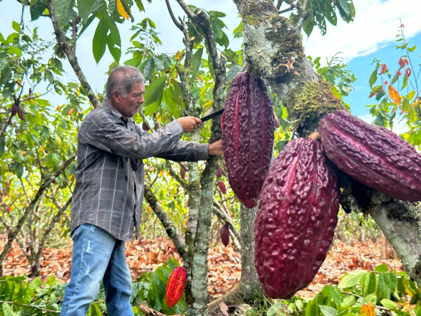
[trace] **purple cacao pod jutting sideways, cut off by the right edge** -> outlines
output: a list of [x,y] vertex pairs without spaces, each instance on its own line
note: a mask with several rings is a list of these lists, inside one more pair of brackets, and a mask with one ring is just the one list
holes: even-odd
[[421,155],[392,131],[346,111],[319,125],[328,158],[349,176],[392,198],[421,201]]

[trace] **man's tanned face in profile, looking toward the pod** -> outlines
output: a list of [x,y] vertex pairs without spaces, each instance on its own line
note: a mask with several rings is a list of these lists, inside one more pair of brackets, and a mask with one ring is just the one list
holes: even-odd
[[144,93],[145,84],[135,82],[132,85],[131,91],[125,98],[117,91],[113,91],[112,106],[123,115],[124,119],[131,118],[139,111],[142,103],[145,102],[145,99],[143,98]]

